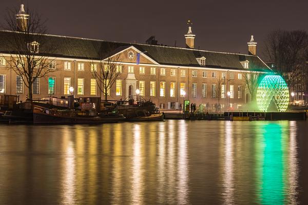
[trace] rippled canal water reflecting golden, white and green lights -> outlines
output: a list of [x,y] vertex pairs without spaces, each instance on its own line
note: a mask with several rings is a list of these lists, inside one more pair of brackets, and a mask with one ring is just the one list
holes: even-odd
[[0,125],[0,204],[308,204],[308,121]]

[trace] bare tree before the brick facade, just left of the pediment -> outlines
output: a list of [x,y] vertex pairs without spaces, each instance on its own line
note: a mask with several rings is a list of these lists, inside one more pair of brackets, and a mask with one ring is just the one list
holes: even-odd
[[[122,73],[123,66],[119,64],[120,55],[114,54],[115,49],[105,48],[104,52],[99,52],[99,63],[91,60],[90,70],[92,76],[97,81],[97,85],[104,94],[104,99],[107,100],[110,94],[110,88],[113,86],[119,75]],[[107,56],[107,57],[105,57]]]

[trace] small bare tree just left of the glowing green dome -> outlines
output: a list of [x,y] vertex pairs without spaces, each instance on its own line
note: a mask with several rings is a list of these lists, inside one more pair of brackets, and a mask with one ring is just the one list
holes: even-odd
[[254,101],[256,99],[259,80],[262,75],[263,74],[261,72],[253,70],[247,70],[243,72],[246,88],[251,95],[251,101]]

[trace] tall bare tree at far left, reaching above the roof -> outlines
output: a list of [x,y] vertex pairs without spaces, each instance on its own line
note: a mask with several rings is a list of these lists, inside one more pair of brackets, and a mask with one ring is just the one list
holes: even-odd
[[28,88],[28,98],[32,99],[32,85],[37,78],[44,77],[49,69],[48,57],[55,50],[48,43],[45,21],[34,11],[21,9],[8,10],[5,17],[5,30],[12,33],[6,39],[9,45],[10,58],[8,69],[21,76]]

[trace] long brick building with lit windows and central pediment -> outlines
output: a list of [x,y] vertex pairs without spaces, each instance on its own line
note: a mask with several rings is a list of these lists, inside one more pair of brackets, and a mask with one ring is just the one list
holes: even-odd
[[[0,94],[20,95],[20,99],[25,100],[27,88],[21,77],[7,69],[6,62],[11,58],[12,50],[8,39],[13,33],[0,31]],[[117,63],[122,69],[119,69],[121,74],[110,88],[108,99],[128,99],[139,89],[141,97],[151,99],[165,109],[181,109],[184,99],[209,109],[218,104],[218,99],[222,107],[240,108],[250,98],[243,72],[269,71],[256,55],[257,43],[253,36],[248,43],[249,55],[197,50],[194,49],[195,34],[191,26],[185,34],[187,48],[59,35],[42,35],[41,39],[55,46],[56,50],[47,54],[52,72],[37,78],[33,85],[33,98],[67,96],[70,87],[74,88],[75,97],[103,98],[91,74],[91,67],[101,62],[99,53],[110,46],[115,48],[113,55],[120,56]],[[40,42],[37,43],[40,51]]]

